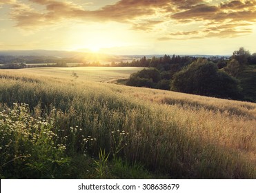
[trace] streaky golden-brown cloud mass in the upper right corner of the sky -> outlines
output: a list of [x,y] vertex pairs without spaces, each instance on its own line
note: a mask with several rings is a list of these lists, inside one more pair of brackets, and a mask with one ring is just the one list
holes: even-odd
[[[173,32],[161,39],[237,37],[252,32],[256,1],[228,1],[219,5],[201,3],[170,15],[177,23],[201,23],[196,31]],[[197,32],[198,31],[198,32]]]

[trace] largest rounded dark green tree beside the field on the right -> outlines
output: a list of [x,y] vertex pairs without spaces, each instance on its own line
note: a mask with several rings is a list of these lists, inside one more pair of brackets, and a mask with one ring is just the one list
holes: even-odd
[[206,59],[198,59],[175,74],[171,90],[237,99],[238,83],[224,72],[218,71],[217,65]]

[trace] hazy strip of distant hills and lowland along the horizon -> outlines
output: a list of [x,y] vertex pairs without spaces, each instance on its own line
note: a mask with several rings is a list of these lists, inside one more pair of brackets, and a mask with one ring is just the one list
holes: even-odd
[[[86,52],[87,51],[87,52]],[[173,56],[173,54],[168,54]],[[177,54],[178,55],[178,54]],[[179,56],[190,57],[230,57],[221,55],[189,55],[182,54]],[[148,55],[111,55],[104,53],[88,52],[88,50],[77,51],[61,51],[61,50],[0,50],[0,63],[57,63],[58,61],[66,61],[67,63],[83,63],[83,62],[99,62],[101,64],[114,62],[127,62],[132,59],[141,59],[146,57],[164,57],[164,54],[148,54]]]

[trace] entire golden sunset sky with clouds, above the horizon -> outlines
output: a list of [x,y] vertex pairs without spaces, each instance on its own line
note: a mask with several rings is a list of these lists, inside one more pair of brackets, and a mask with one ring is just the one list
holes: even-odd
[[0,0],[0,50],[256,52],[256,0]]

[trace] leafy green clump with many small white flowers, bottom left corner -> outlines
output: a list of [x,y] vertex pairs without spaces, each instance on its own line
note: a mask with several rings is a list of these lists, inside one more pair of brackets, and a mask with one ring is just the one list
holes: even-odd
[[[65,139],[57,140],[53,119],[30,115],[28,105],[1,108],[0,144],[2,176],[6,178],[57,178],[65,174]],[[59,142],[58,142],[59,141]]]

